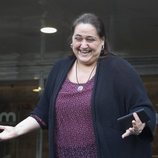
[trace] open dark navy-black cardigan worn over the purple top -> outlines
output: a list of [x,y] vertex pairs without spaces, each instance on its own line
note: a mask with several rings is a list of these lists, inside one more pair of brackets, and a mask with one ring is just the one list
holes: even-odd
[[[41,127],[48,128],[49,158],[55,158],[56,98],[74,61],[75,57],[69,56],[54,65],[32,112],[42,120]],[[98,158],[151,158],[155,111],[139,75],[127,61],[113,54],[98,60],[91,106]],[[117,118],[142,107],[150,122],[139,136],[122,139],[125,131],[120,129]]]

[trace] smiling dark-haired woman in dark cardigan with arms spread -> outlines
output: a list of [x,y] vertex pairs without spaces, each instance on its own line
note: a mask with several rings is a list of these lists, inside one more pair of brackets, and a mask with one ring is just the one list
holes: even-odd
[[[50,158],[150,158],[155,111],[142,81],[124,59],[109,53],[103,22],[94,14],[72,27],[73,55],[57,62],[31,115],[1,126],[0,140],[48,128]],[[135,113],[144,109],[150,122]],[[133,113],[122,131],[117,118]]]

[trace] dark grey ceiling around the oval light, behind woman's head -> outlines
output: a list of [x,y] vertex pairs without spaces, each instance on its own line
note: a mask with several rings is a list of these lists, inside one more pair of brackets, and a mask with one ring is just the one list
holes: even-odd
[[[93,12],[105,23],[113,51],[129,56],[158,56],[157,0],[5,0],[0,5],[0,55],[70,50],[72,20]],[[58,29],[41,35],[42,22]],[[44,37],[43,37],[44,36]]]

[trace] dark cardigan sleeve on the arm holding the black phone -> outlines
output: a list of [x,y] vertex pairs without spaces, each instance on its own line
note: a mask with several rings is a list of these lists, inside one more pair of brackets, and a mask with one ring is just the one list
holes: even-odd
[[120,94],[124,96],[123,99],[126,107],[126,113],[132,113],[141,108],[145,110],[150,118],[150,121],[146,123],[146,127],[139,137],[144,140],[152,141],[153,132],[156,125],[156,112],[147,95],[147,91],[139,74],[124,59],[117,61],[116,74],[116,82],[119,82],[120,85],[118,89]]

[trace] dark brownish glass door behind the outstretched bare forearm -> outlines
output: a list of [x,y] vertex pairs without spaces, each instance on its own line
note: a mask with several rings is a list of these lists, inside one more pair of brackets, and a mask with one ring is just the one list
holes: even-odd
[[[38,81],[9,81],[0,83],[0,124],[15,126],[29,116],[36,106]],[[40,133],[40,135],[39,135]],[[0,158],[35,158],[39,153],[47,156],[47,132],[34,131],[21,137],[0,142]],[[44,141],[41,139],[44,138]],[[42,149],[39,148],[41,142]],[[43,145],[45,144],[45,145]],[[45,150],[45,151],[40,151]]]

